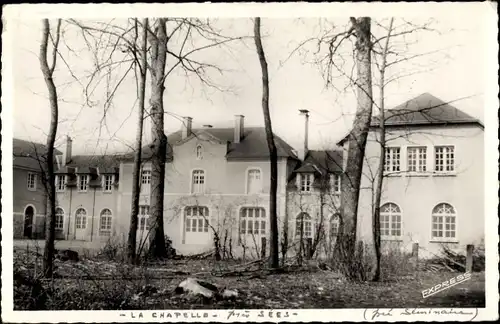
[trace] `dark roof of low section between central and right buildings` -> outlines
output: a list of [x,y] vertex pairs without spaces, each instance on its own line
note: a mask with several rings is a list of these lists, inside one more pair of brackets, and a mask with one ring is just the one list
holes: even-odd
[[342,161],[343,151],[310,150],[307,152],[304,162],[294,172],[338,173],[342,172]]

